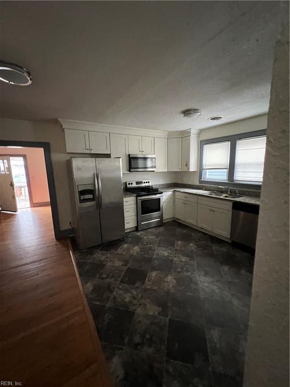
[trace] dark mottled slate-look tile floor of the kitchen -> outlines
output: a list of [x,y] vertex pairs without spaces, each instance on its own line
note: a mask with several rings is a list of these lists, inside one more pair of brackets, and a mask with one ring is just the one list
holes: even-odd
[[117,387],[242,386],[252,255],[175,221],[75,254]]

